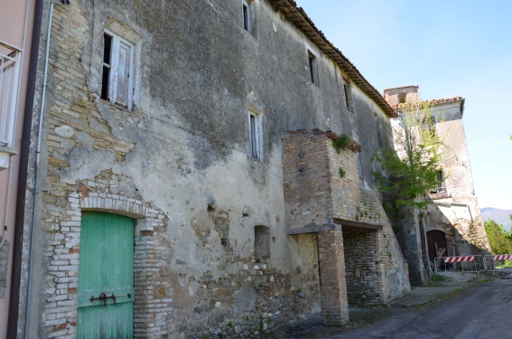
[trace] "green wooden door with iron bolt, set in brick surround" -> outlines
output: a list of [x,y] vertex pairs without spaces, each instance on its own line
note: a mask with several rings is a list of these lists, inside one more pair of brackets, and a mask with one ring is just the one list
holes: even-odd
[[134,337],[134,220],[83,212],[79,338]]

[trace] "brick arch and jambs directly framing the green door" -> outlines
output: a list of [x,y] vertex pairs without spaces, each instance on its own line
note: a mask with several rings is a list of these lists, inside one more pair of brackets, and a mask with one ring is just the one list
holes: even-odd
[[[162,211],[151,206],[150,202],[144,202],[135,197],[129,198],[118,193],[109,193],[111,187],[100,187],[102,193],[90,192],[80,189],[78,192],[67,195],[67,207],[65,215],[70,221],[61,221],[61,226],[73,226],[75,230],[67,234],[67,231],[61,232],[70,238],[70,253],[72,259],[79,260],[80,236],[76,227],[81,223],[81,212],[96,211],[114,214],[126,215],[135,219],[135,310],[134,325],[135,333],[145,337],[154,337],[158,331],[162,331],[162,324],[148,322],[152,311],[158,309],[161,318],[167,319],[172,313],[172,298],[168,296],[154,296],[148,291],[161,287],[161,281],[168,279],[162,274],[167,268],[165,253],[162,250],[161,240],[165,238],[165,230],[168,218]],[[162,260],[148,264],[148,261],[155,260],[163,256]],[[161,272],[158,277],[153,275],[153,271]],[[78,265],[70,269],[67,275],[72,277],[72,282],[78,284]],[[151,278],[150,278],[151,277]],[[68,294],[76,294],[76,288],[68,290]],[[70,297],[71,300],[78,300],[76,297]],[[69,305],[70,309],[76,310],[78,304]],[[76,315],[75,315],[76,316]],[[71,319],[72,326],[76,326],[76,318]]]

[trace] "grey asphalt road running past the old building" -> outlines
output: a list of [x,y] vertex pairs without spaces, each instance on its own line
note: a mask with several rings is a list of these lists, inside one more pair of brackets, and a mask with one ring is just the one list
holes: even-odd
[[313,326],[283,337],[512,339],[512,279],[470,287],[433,306],[390,308],[366,316],[374,316],[373,321],[358,328]]

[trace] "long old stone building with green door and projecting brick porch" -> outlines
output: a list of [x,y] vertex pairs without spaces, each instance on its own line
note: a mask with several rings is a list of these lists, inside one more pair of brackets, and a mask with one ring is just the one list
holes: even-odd
[[20,334],[257,337],[410,290],[372,175],[396,113],[293,0],[43,18]]

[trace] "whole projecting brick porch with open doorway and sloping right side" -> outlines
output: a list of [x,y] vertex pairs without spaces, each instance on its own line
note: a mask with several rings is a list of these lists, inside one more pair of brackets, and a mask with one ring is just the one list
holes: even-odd
[[[324,278],[340,280],[345,286],[347,268],[347,287],[343,291],[348,290],[349,294],[342,296],[345,303],[349,297],[351,305],[377,306],[406,293],[409,284],[405,260],[376,193],[359,186],[356,155],[350,150],[338,154],[330,138],[322,132],[286,132],[283,149],[287,227],[292,231],[319,231],[314,226],[340,228],[341,225],[343,230],[340,247],[336,249],[344,247],[345,257],[337,254],[339,257],[332,256],[328,263],[320,263],[322,286]],[[376,230],[349,227],[347,222]],[[323,232],[318,233],[319,242]],[[343,262],[338,263],[335,258]],[[320,259],[325,257],[321,255]],[[338,270],[340,264],[342,274]],[[324,270],[324,265],[325,269],[330,265],[337,268]],[[360,278],[355,277],[356,268]],[[325,310],[325,305],[322,307],[324,314],[331,312]]]

